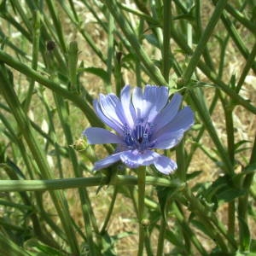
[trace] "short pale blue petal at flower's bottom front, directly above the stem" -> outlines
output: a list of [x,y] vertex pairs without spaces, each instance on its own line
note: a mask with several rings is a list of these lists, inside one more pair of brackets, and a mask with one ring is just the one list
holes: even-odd
[[137,168],[138,166],[149,166],[154,163],[154,158],[157,157],[153,151],[146,150],[143,153],[137,150],[128,150],[120,155],[121,161],[130,168]]

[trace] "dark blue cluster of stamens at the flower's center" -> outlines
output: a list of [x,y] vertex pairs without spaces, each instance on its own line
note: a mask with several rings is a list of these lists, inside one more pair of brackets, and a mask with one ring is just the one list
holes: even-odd
[[140,152],[152,148],[155,143],[150,141],[153,126],[150,123],[143,123],[143,121],[138,122],[134,129],[130,129],[125,125],[124,142],[127,147],[129,149],[138,149]]

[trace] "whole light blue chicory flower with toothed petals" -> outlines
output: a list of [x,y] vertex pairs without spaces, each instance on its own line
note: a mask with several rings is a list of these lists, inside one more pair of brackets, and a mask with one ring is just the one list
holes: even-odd
[[175,161],[153,151],[154,148],[173,148],[185,131],[194,123],[189,107],[180,108],[182,96],[168,99],[165,86],[146,85],[144,91],[136,87],[131,96],[130,85],[125,85],[120,99],[110,93],[94,101],[94,109],[102,122],[116,133],[90,127],[83,132],[90,144],[115,143],[114,154],[95,163],[94,170],[121,160],[130,168],[154,164],[159,172],[169,174],[177,169]]

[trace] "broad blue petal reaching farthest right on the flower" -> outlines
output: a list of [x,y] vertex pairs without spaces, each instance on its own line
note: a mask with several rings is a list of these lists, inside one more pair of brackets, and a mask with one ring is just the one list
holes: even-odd
[[162,134],[167,133],[172,135],[172,132],[177,132],[179,130],[187,131],[194,124],[194,113],[191,108],[185,107],[180,110],[172,121],[161,128],[159,131],[154,132],[154,137],[152,139],[157,139]]

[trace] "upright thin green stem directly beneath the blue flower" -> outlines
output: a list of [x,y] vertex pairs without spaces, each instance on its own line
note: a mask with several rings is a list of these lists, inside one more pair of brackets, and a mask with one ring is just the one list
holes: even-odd
[[137,169],[137,187],[138,187],[138,221],[139,221],[139,242],[137,255],[143,255],[145,228],[143,226],[144,218],[144,201],[145,201],[145,181],[146,181],[146,168],[140,166]]

